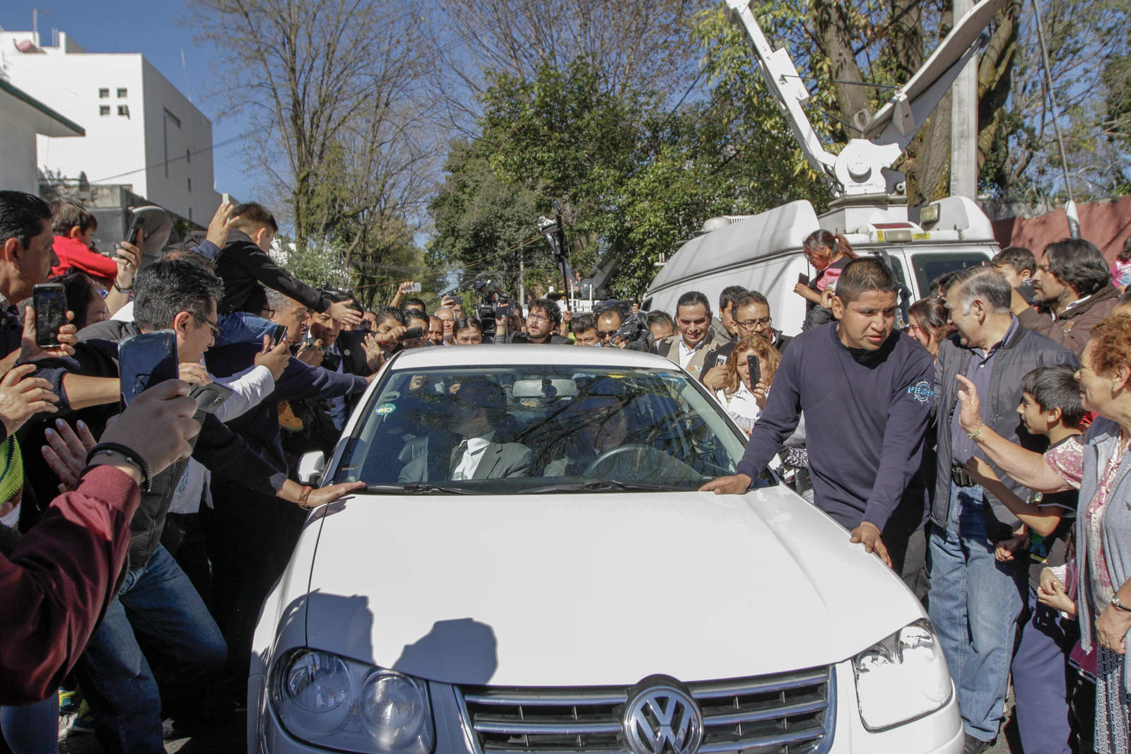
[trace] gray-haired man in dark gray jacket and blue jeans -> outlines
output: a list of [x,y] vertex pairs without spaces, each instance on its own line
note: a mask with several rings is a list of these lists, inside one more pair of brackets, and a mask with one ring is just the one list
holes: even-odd
[[[982,421],[1011,442],[1026,444],[1017,406],[1021,378],[1038,366],[1078,366],[1068,348],[1026,330],[1010,314],[1012,288],[991,267],[961,270],[947,288],[947,309],[958,331],[943,341],[935,362],[938,467],[931,510],[929,613],[958,690],[966,748],[979,753],[998,735],[1005,700],[1013,632],[1025,601],[1027,569],[998,563],[998,541],[1017,517],[961,471],[981,456],[958,425],[962,374],[985,396]],[[992,466],[992,463],[991,463]],[[1026,489],[994,468],[1022,499]]]

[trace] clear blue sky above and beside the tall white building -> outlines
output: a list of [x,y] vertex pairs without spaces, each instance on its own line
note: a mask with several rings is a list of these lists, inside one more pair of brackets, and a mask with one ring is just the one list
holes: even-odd
[[[202,97],[205,84],[211,76],[209,63],[214,55],[210,49],[193,45],[195,29],[178,23],[184,10],[183,3],[153,0],[3,2],[0,3],[0,27],[9,32],[29,31],[33,8],[40,11],[40,38],[45,44],[51,43],[51,29],[54,27],[66,32],[87,52],[140,52],[213,121],[213,144],[240,136],[242,123],[235,119],[217,122],[215,106]],[[213,156],[216,190],[239,199],[252,199],[259,177],[244,174],[242,161],[235,151],[238,146],[239,142],[234,142],[221,147]]]

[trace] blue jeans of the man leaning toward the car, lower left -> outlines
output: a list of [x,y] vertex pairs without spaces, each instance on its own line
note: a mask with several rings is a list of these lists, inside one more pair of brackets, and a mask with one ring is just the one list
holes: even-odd
[[[152,667],[135,634],[144,638]],[[158,545],[148,563],[127,571],[75,668],[103,748],[162,754],[162,701],[171,716],[199,701],[193,696],[226,656],[197,590]]]

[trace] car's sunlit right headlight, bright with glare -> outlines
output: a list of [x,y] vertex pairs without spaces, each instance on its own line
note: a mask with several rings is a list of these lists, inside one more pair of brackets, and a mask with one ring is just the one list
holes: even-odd
[[860,717],[883,730],[941,709],[952,684],[931,622],[920,619],[853,658]]

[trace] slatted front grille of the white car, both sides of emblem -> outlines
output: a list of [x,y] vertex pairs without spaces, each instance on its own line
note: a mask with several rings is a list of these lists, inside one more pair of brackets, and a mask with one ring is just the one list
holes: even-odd
[[[818,754],[831,744],[830,667],[688,684],[703,716],[699,754]],[[477,754],[628,754],[625,687],[457,690]]]

